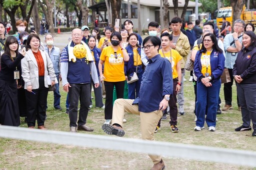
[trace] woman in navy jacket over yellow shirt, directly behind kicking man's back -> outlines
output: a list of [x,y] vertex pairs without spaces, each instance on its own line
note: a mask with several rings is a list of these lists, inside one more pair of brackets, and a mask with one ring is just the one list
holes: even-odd
[[140,83],[142,81],[142,74],[144,73],[144,65],[141,61],[140,54],[141,48],[138,43],[138,36],[136,33],[131,33],[128,36],[128,46],[125,48],[129,61],[124,62],[124,73],[126,80],[130,80],[135,72],[138,80],[128,84],[128,98],[135,99],[139,96]]

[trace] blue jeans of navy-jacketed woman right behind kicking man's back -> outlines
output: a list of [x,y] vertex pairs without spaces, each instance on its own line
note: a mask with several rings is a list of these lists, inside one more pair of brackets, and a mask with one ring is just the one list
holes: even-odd
[[[144,73],[144,70],[142,69],[141,66],[142,65],[137,67],[138,80],[133,83],[128,84],[128,99],[135,99],[138,97],[139,88],[140,88],[140,84],[142,81],[142,74]],[[136,70],[136,66],[134,66],[134,70]]]

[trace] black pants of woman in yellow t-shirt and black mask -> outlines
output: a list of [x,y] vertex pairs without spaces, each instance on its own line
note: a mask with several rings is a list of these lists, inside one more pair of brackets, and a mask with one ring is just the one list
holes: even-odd
[[112,119],[113,112],[113,89],[115,86],[117,99],[123,98],[124,81],[108,82],[104,81],[106,99],[105,99],[105,119]]

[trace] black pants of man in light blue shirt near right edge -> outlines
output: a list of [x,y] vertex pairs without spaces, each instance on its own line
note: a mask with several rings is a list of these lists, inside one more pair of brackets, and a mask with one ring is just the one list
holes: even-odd
[[[228,68],[228,73],[230,76],[230,82],[224,83],[224,99],[225,99],[225,104],[226,105],[232,105],[232,85],[233,85],[233,74],[232,74],[233,69]],[[240,106],[238,96],[236,97],[237,100],[237,105],[238,107]]]

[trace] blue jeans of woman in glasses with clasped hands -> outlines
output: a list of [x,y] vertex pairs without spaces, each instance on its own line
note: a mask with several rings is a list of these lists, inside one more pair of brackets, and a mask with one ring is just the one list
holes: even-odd
[[[206,87],[201,81],[197,81],[197,101],[196,101],[196,126],[203,127],[204,120],[208,127],[216,126],[216,112],[220,90],[220,80],[211,83],[211,87]],[[207,113],[205,118],[205,113]]]

